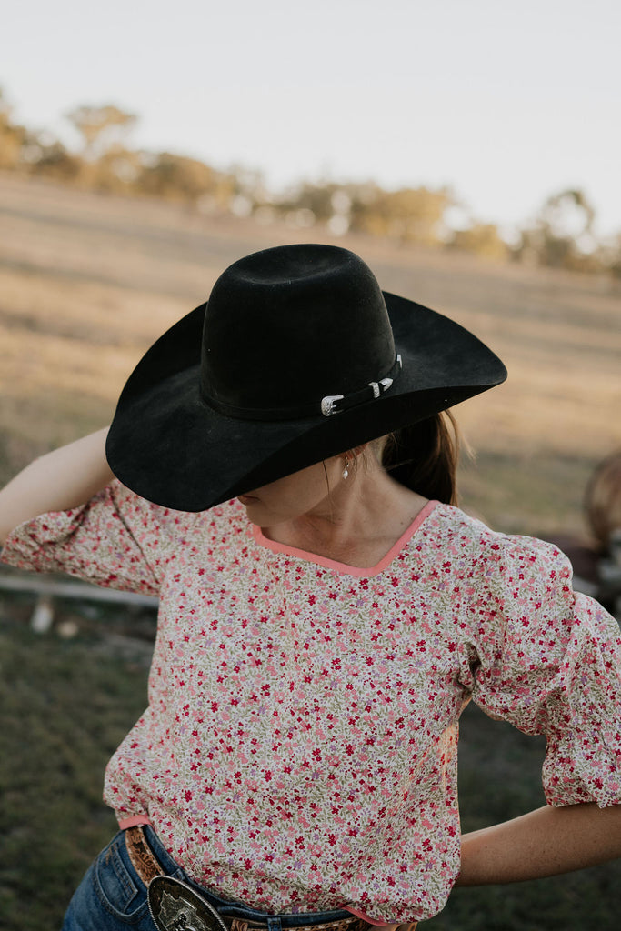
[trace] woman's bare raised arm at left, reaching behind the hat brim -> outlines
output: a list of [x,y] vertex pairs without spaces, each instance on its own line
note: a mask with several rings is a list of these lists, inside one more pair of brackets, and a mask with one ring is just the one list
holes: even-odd
[[0,543],[23,520],[84,505],[114,475],[105,458],[108,427],[48,452],[0,491]]

